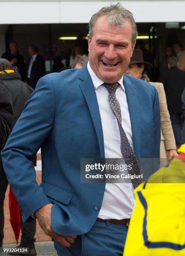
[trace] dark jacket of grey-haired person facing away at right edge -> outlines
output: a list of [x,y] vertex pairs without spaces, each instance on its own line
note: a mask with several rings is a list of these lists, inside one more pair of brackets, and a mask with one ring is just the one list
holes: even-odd
[[170,114],[182,113],[181,95],[185,88],[185,72],[177,67],[171,67],[160,76],[166,93],[167,105]]

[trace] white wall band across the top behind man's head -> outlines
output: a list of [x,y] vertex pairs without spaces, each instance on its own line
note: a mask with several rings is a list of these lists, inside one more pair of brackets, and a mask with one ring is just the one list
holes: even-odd
[[[0,1],[0,24],[88,23],[93,13],[111,1]],[[185,22],[185,1],[122,1],[136,22]]]

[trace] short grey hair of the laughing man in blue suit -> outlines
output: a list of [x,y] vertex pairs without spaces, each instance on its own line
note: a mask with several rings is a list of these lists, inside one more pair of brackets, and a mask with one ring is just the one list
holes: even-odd
[[115,5],[110,4],[110,6],[103,7],[97,13],[92,15],[89,22],[90,38],[92,38],[95,22],[101,16],[107,16],[107,21],[110,26],[121,26],[125,22],[125,20],[130,21],[133,29],[132,46],[135,45],[136,38],[138,36],[137,25],[135,24],[133,14],[129,10],[123,8],[120,3],[117,3]]

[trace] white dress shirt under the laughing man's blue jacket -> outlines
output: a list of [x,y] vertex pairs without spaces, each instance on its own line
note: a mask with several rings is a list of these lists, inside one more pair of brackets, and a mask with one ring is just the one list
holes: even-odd
[[[117,119],[108,101],[109,92],[102,86],[101,81],[90,67],[87,69],[95,87],[97,102],[100,110],[102,122],[103,140],[105,148],[105,158],[122,158],[120,149],[120,130]],[[121,85],[116,90],[116,98],[120,102],[122,115],[122,128],[124,129],[128,141],[133,148],[132,128],[128,110],[127,97],[123,85],[123,77],[118,81]],[[132,183],[106,183],[102,207],[98,218],[122,220],[130,218],[135,205]]]

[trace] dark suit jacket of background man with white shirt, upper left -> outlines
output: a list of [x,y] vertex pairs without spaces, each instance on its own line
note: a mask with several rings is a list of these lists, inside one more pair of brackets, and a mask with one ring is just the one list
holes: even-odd
[[37,57],[32,64],[30,79],[28,79],[28,84],[35,90],[35,86],[38,80],[44,75],[45,75],[45,60],[42,58],[40,54],[37,54]]

